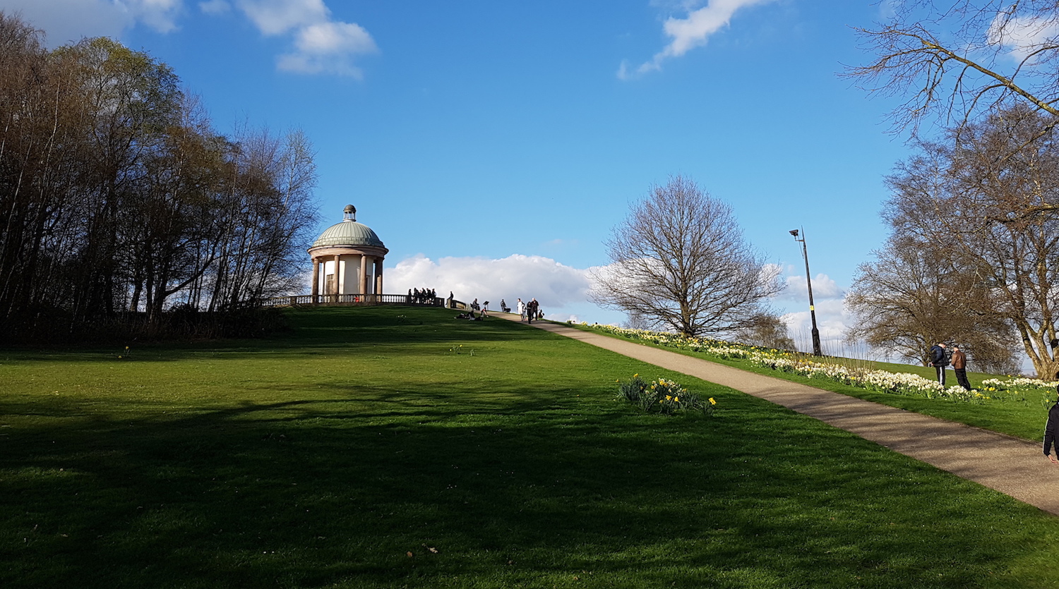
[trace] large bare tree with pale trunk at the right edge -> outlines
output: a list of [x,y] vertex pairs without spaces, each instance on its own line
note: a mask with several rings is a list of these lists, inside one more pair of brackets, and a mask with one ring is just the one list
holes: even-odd
[[940,301],[964,305],[986,331],[1006,323],[1038,374],[1059,368],[1049,346],[1059,220],[1040,213],[1059,205],[1055,121],[1029,106],[1002,110],[920,143],[889,179],[891,242],[922,244],[939,260],[940,287],[955,290]]

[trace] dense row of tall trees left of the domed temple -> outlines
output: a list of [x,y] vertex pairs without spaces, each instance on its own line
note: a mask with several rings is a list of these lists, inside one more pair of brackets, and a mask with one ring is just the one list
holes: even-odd
[[106,38],[54,51],[0,13],[0,334],[180,307],[295,278],[316,183],[301,132],[217,133],[164,63]]

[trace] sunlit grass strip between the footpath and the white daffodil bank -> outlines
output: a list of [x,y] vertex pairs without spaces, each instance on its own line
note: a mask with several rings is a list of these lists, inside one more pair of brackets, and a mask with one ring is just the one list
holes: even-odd
[[[897,407],[900,409],[915,411],[927,416],[933,416],[949,421],[965,423],[967,425],[973,425],[975,427],[981,427],[983,429],[989,429],[992,431],[1006,434],[1008,436],[1015,436],[1016,438],[1022,438],[1024,440],[1029,440],[1034,442],[1042,441],[1044,436],[1044,422],[1047,420],[1048,408],[1055,403],[1056,400],[1056,393],[1051,389],[1027,392],[1023,398],[1020,399],[1008,399],[1008,400],[984,399],[975,403],[948,401],[944,399],[926,399],[921,397],[893,394],[886,392],[876,392],[860,387],[836,383],[833,381],[829,381],[826,379],[810,379],[802,374],[773,370],[771,368],[754,364],[749,360],[744,358],[731,358],[731,360],[719,358],[702,352],[681,350],[678,348],[667,348],[665,346],[651,344],[649,342],[645,342],[642,339],[631,339],[612,333],[595,331],[589,326],[575,324],[572,325],[571,327],[581,329],[585,331],[593,331],[594,333],[607,335],[608,337],[616,337],[618,339],[635,342],[636,344],[642,344],[645,346],[653,346],[656,348],[668,350],[687,356],[707,360],[710,362],[716,362],[717,364],[723,364],[725,366],[739,368],[740,370],[747,370],[749,372],[754,372],[756,374],[774,376],[776,379],[783,379],[785,381],[790,381],[793,383],[805,384],[824,390],[830,390],[842,394],[848,394],[849,397],[856,397],[858,399],[874,401],[876,403],[889,405],[891,407]],[[936,372],[934,368],[931,367],[912,366],[907,364],[893,364],[883,362],[866,362],[866,361],[842,358],[834,356],[824,356],[821,358],[816,358],[813,357],[812,355],[806,355],[805,357],[813,362],[833,363],[850,367],[866,367],[874,370],[887,370],[891,372],[908,372],[911,374],[918,374],[920,376],[930,380],[934,380],[936,378]],[[967,373],[968,381],[970,382],[971,386],[975,388],[981,388],[982,381],[986,379],[1006,379],[1006,378],[1007,376],[1002,374],[1001,375],[989,374],[986,372]],[[956,384],[956,378],[951,370],[949,370],[948,373],[947,384],[950,386]],[[984,392],[984,394],[988,395],[989,392],[986,391]]]

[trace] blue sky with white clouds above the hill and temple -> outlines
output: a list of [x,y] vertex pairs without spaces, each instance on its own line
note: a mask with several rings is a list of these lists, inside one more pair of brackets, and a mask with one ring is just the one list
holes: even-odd
[[[885,3],[883,3],[885,4]],[[785,269],[773,306],[808,333],[804,227],[825,338],[881,246],[882,178],[908,154],[893,104],[839,77],[869,59],[863,0],[362,2],[0,0],[52,47],[110,36],[172,66],[221,132],[303,129],[320,229],[353,203],[390,249],[388,292],[536,296],[617,323],[586,271],[670,174],[732,204]],[[308,265],[308,262],[307,262]],[[834,347],[832,351],[839,351]]]

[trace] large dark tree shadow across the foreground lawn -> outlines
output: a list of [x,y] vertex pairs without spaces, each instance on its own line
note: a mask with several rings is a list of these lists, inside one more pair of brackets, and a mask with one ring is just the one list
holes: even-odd
[[1018,544],[1012,500],[756,400],[671,419],[456,392],[13,432],[0,582],[973,587]]

